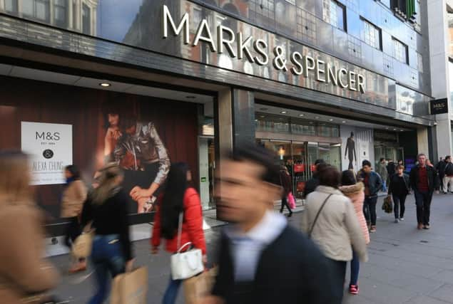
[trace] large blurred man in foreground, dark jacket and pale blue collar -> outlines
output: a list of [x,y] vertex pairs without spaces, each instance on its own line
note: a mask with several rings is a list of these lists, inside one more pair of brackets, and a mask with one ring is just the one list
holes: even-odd
[[326,258],[268,206],[280,198],[279,170],[264,148],[243,145],[220,163],[216,194],[226,226],[219,271],[204,304],[340,304]]

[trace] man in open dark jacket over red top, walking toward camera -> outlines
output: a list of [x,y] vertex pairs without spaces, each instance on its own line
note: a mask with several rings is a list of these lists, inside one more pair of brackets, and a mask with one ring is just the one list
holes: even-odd
[[437,171],[433,167],[427,166],[425,154],[418,154],[417,159],[417,167],[411,169],[409,179],[415,194],[417,228],[420,230],[429,229],[432,194],[439,187],[439,178],[437,177]]

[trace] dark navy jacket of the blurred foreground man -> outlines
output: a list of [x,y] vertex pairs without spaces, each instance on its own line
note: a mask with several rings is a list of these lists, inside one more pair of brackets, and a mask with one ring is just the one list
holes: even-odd
[[213,295],[225,304],[340,304],[331,288],[332,275],[327,260],[312,241],[287,226],[263,250],[255,281],[234,281],[233,258],[228,236],[220,238],[219,272]]

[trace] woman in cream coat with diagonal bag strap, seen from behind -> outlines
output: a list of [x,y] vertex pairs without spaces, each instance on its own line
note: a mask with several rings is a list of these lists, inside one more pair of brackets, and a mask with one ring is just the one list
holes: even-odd
[[360,261],[367,261],[367,248],[354,206],[340,192],[340,172],[327,166],[319,172],[320,185],[307,196],[302,214],[302,231],[320,246],[335,276],[338,303],[341,303],[346,264],[352,248]]

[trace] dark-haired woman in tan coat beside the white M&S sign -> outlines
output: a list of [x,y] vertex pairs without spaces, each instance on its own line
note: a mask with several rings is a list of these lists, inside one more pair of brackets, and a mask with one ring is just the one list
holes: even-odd
[[[64,243],[71,249],[72,243],[81,234],[80,216],[83,202],[86,200],[86,186],[81,181],[80,171],[76,165],[70,164],[66,166],[64,175],[66,177],[66,187],[63,190],[63,196],[61,196],[61,217],[69,222]],[[78,261],[71,258],[70,273],[84,270],[86,270],[84,258]]]

